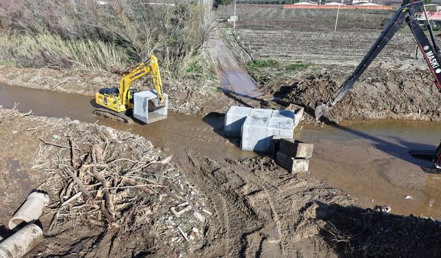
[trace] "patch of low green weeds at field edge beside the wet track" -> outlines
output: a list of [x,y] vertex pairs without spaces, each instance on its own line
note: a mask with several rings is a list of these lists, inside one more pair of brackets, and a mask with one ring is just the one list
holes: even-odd
[[260,85],[265,85],[274,78],[289,76],[293,72],[300,72],[309,67],[314,69],[314,65],[311,63],[283,64],[273,59],[258,59],[245,64],[249,75]]

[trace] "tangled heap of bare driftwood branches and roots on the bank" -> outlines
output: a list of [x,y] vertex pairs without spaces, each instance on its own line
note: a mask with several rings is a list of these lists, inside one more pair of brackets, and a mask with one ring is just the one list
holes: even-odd
[[[52,196],[50,229],[62,221],[87,220],[130,233],[140,215],[155,212],[153,200],[166,191],[164,169],[173,169],[150,142],[131,133],[71,122],[65,133],[41,137],[33,169]],[[144,216],[145,217],[145,216]]]

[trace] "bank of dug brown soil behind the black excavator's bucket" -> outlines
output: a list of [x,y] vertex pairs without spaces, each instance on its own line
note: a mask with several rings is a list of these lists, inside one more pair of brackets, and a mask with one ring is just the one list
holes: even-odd
[[[319,100],[329,102],[351,69],[329,67],[325,72],[299,72],[265,85],[265,94],[286,107],[294,103],[305,107],[305,121],[314,122],[314,107]],[[334,121],[360,119],[441,120],[438,103],[441,94],[429,72],[416,69],[371,67],[353,89],[328,114]],[[267,107],[280,108],[267,103]]]

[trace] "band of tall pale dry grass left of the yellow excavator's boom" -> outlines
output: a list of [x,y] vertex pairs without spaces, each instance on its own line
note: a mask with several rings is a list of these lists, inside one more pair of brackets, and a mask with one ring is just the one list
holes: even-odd
[[48,33],[0,33],[0,59],[23,67],[106,71],[122,71],[129,61],[123,47],[98,40],[65,40]]

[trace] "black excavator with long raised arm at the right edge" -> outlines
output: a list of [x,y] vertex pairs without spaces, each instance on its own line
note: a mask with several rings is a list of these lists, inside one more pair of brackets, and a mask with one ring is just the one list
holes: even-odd
[[[407,23],[407,25],[409,25],[413,36],[415,36],[418,47],[420,47],[422,55],[424,56],[424,59],[427,62],[427,65],[429,65],[429,69],[433,74],[433,77],[435,78],[435,84],[441,92],[440,49],[435,43],[435,37],[433,36],[433,31],[431,29],[430,23],[427,24],[427,27],[429,29],[431,41],[427,39],[427,36],[424,34],[422,28],[418,24],[418,21],[415,19],[415,13],[420,10],[420,8],[422,8],[423,4],[423,1],[408,3],[402,6],[400,10],[398,10],[395,14],[393,14],[393,17],[391,17],[389,23],[384,26],[384,29],[382,30],[380,36],[378,36],[378,39],[375,41],[375,43],[373,43],[373,45],[371,46],[371,49],[369,49],[369,51],[362,59],[360,64],[353,71],[351,76],[349,76],[345,80],[345,83],[342,84],[342,86],[340,87],[340,92],[338,92],[336,97],[330,100],[327,105],[321,102],[318,103],[315,111],[317,120],[319,120],[321,116],[326,114],[331,107],[336,105],[347,94],[347,92],[349,92],[349,89],[353,87],[354,83],[356,83],[358,78],[360,78],[363,72],[365,72],[367,67],[369,67],[372,61],[376,58],[376,56],[378,56],[384,46],[389,43],[393,35],[395,35],[396,32],[400,30],[404,23]],[[422,154],[422,151],[409,151],[409,153],[411,153],[411,155],[418,156]],[[425,151],[424,153],[427,153],[427,151]],[[441,171],[441,144],[435,152],[431,151],[430,153],[431,160],[434,162],[436,170]]]

